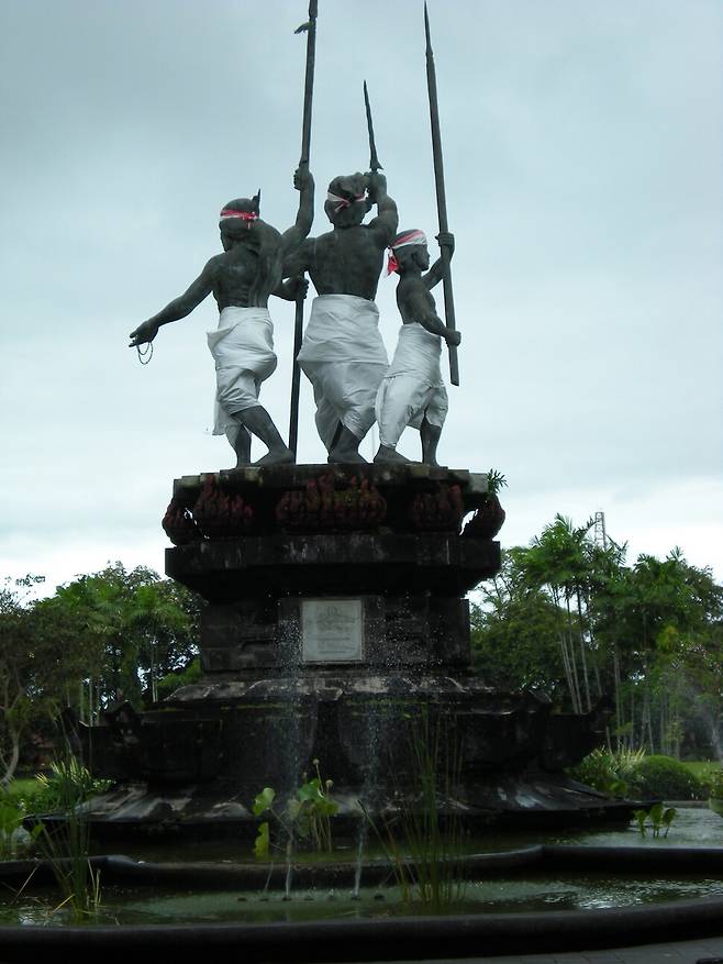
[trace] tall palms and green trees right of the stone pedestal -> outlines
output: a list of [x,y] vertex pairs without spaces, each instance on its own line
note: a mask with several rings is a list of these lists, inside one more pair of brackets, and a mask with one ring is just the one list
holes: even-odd
[[504,552],[472,606],[477,672],[575,712],[612,697],[612,749],[723,760],[723,586],[678,549],[626,565],[592,529],[557,516]]

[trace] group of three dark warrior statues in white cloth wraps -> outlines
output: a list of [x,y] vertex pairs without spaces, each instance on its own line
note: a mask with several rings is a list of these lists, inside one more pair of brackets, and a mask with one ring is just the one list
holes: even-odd
[[[294,174],[300,195],[294,224],[281,234],[263,221],[259,195],[225,204],[219,224],[223,253],[207,263],[183,295],[131,333],[131,347],[153,342],[160,325],[185,318],[213,293],[220,312],[218,329],[208,333],[216,372],[214,434],[226,435],[237,466],[251,464],[252,435],[268,448],[256,465],[293,463],[296,442],[292,447],[286,444],[258,397],[262,383],[277,365],[269,297],[300,304],[308,274],[316,297],[296,361],[313,387],[316,429],[329,462],[365,462],[359,443],[376,421],[379,450],[375,463],[408,462],[397,452],[397,444],[404,429],[412,425],[420,431],[422,461],[436,465],[447,412],[440,366],[442,341],[454,357],[460,335],[438,317],[431,288],[448,279],[454,237],[444,230],[441,217],[437,239],[442,257],[430,268],[424,233],[416,229],[398,233],[397,204],[387,193],[387,179],[378,169],[368,100],[371,169],[331,181],[324,211],[332,230],[309,237],[314,210],[314,181],[308,164],[313,2],[307,26],[311,26],[308,97],[301,163]],[[429,59],[427,30],[427,73]],[[376,217],[365,224],[372,207]],[[397,304],[402,319],[391,364],[379,333],[375,303],[386,250],[389,272],[399,274]]]

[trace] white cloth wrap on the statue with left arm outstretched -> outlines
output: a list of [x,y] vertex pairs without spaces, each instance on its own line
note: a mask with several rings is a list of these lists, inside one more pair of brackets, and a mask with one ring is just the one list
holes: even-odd
[[216,377],[213,434],[231,439],[238,430],[232,413],[258,405],[262,381],[276,368],[274,325],[268,308],[224,308],[207,335]]

